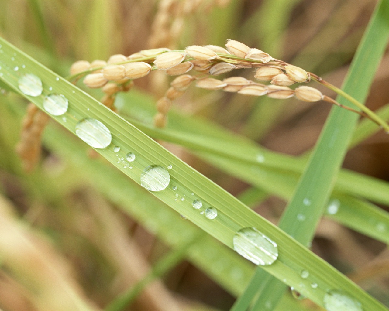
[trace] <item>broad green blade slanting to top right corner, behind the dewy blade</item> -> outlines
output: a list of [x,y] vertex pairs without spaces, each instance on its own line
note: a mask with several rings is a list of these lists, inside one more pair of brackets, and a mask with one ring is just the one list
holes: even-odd
[[[361,102],[366,100],[387,45],[389,38],[387,16],[389,16],[389,2],[384,0],[378,3],[371,17],[342,87],[345,93]],[[336,101],[343,105],[350,105],[340,96],[336,98]],[[335,185],[336,175],[347,151],[356,122],[357,115],[355,114],[349,114],[338,107],[331,110],[294,195],[280,219],[279,227],[303,245],[307,245],[314,236],[325,204]],[[299,215],[303,215],[305,221],[296,226]],[[255,275],[254,279],[266,274],[263,271],[259,273],[261,275]],[[258,297],[253,310],[263,308],[265,301],[276,304],[282,294],[281,290],[275,292],[277,287],[284,287],[284,285],[279,281],[274,281],[272,287],[265,286],[266,291]]]

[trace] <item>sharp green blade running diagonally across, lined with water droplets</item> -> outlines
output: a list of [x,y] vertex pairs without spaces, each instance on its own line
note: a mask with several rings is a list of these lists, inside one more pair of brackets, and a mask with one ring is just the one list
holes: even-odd
[[[55,92],[66,96],[70,103],[70,107],[64,115],[67,118],[66,122],[63,119],[64,116],[53,117],[53,119],[72,133],[75,133],[75,124],[84,117],[91,117],[103,122],[112,134],[112,143],[106,149],[98,149],[96,151],[117,169],[130,177],[130,179],[140,183],[140,173],[150,164],[159,164],[164,167],[172,165],[170,186],[176,185],[180,189],[179,192],[168,187],[163,191],[154,192],[152,195],[165,202],[175,211],[185,215],[191,222],[230,248],[233,247],[233,236],[238,230],[244,227],[260,228],[263,234],[277,242],[279,248],[279,256],[276,262],[269,266],[263,266],[263,269],[280,280],[285,280],[284,282],[287,285],[296,288],[301,284],[301,269],[311,269],[310,278],[304,280],[303,283],[305,283],[307,288],[311,282],[318,283],[319,287],[315,290],[307,290],[304,294],[320,306],[324,304],[323,297],[328,288],[336,288],[357,297],[366,311],[386,309],[380,302],[373,299],[361,288],[336,271],[336,269],[324,262],[324,260],[247,208],[247,206],[205,178],[205,176],[180,161],[158,143],[154,142],[154,140],[101,105],[91,96],[66,80],[61,79],[5,40],[1,39],[0,42],[3,51],[0,58],[1,73],[3,75],[0,78],[13,87],[15,91],[19,92],[19,77],[23,73],[34,73],[42,80],[44,95]],[[15,58],[14,61],[12,57]],[[22,69],[15,71],[14,65],[20,65]],[[25,65],[25,68],[22,65]],[[49,87],[53,87],[53,90],[50,91]],[[37,97],[21,95],[42,109],[43,95]],[[121,147],[121,152],[118,152],[118,156],[125,155],[128,151],[134,152],[137,155],[137,161],[134,161],[132,169],[124,168],[120,161],[117,163],[116,152],[113,151],[115,145]],[[203,201],[203,206],[217,208],[218,216],[215,219],[209,220],[193,209],[189,199],[175,201],[176,193],[182,197],[189,198],[192,192],[195,193],[196,198]]]

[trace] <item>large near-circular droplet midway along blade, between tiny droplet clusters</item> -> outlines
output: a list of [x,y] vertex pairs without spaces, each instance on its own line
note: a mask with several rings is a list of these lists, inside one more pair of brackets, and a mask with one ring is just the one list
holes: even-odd
[[140,175],[140,185],[150,191],[161,191],[170,183],[170,175],[160,165],[147,166]]

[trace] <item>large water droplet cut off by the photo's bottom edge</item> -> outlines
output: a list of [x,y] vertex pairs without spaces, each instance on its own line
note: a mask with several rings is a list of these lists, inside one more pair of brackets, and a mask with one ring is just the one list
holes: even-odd
[[323,302],[327,311],[362,311],[359,301],[340,290],[331,290],[326,293]]

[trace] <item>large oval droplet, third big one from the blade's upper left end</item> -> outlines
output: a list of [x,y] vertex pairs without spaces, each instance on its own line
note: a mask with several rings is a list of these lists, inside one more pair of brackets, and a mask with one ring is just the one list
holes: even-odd
[[92,118],[80,120],[75,126],[75,134],[93,148],[108,147],[112,140],[109,129]]

